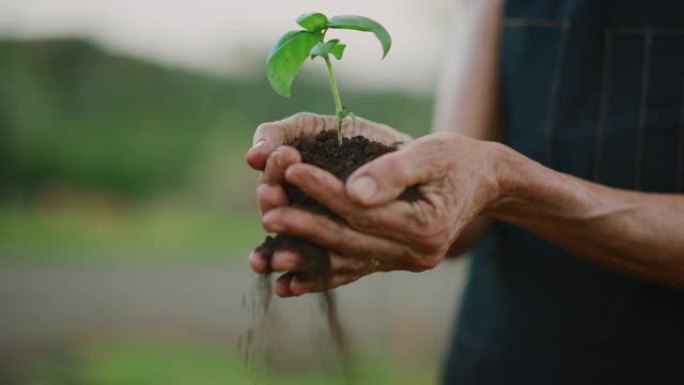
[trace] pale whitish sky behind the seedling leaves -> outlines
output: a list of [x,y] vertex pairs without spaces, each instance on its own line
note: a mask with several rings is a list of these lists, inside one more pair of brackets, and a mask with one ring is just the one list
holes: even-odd
[[[457,0],[0,0],[0,38],[81,36],[128,55],[200,70],[244,73],[265,61],[302,13],[358,14],[390,32],[390,54],[372,34],[340,32],[341,82],[431,92]],[[245,59],[251,58],[251,59]],[[321,71],[308,64],[309,72]],[[257,75],[257,74],[255,74]],[[260,74],[258,74],[260,75]]]

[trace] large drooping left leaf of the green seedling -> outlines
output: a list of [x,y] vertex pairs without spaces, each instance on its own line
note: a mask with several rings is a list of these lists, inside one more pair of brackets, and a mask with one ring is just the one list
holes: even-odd
[[321,34],[309,31],[290,31],[271,48],[266,65],[266,76],[271,87],[281,96],[289,97],[292,82],[309,57],[309,52],[321,41]]

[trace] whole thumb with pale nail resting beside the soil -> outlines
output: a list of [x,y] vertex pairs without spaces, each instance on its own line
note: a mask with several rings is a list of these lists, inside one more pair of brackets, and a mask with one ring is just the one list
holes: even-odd
[[347,195],[367,206],[393,201],[408,187],[441,174],[448,151],[447,144],[435,137],[408,143],[356,170],[347,179]]

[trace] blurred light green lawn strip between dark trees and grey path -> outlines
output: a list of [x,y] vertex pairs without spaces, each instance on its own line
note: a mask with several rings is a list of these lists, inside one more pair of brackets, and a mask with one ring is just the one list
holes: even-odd
[[244,264],[264,231],[253,210],[154,204],[102,210],[0,206],[0,261]]

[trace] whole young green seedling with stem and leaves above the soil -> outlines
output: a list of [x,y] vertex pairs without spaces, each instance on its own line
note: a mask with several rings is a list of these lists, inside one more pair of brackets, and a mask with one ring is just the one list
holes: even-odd
[[325,61],[328,69],[328,79],[335,102],[337,116],[337,143],[342,144],[342,122],[346,117],[354,118],[351,110],[342,105],[340,91],[335,80],[332,60],[342,59],[346,45],[339,39],[325,40],[325,35],[331,29],[349,29],[354,31],[372,32],[382,45],[384,59],[392,45],[389,33],[380,23],[363,16],[335,16],[328,19],[324,14],[307,13],[297,18],[303,30],[290,31],[283,35],[268,54],[266,75],[271,87],[281,96],[289,97],[292,82],[299,73],[307,58],[311,60],[320,57]]

